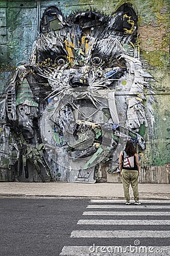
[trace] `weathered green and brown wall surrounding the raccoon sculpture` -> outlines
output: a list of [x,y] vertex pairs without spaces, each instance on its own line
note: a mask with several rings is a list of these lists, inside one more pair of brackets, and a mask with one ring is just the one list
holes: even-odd
[[[146,149],[141,151],[141,182],[170,183],[169,179],[169,10],[168,0],[131,0],[138,14],[138,47],[143,68],[154,79],[149,81],[151,91],[146,89],[146,113],[152,102],[152,117],[148,114]],[[56,5],[63,14],[92,9],[112,14],[124,1],[4,1],[0,3],[0,64],[1,97],[7,88],[8,73],[25,64],[33,42],[39,34],[40,18],[48,6]],[[142,129],[142,127],[141,127]],[[141,130],[142,134],[142,130]],[[103,173],[106,170],[103,168]],[[3,176],[3,175],[2,175]],[[102,175],[106,176],[106,175]],[[5,176],[4,176],[5,177]],[[7,179],[7,178],[4,178]],[[8,177],[10,180],[11,177]],[[106,180],[106,179],[105,179]],[[107,180],[119,182],[118,174],[107,174]]]

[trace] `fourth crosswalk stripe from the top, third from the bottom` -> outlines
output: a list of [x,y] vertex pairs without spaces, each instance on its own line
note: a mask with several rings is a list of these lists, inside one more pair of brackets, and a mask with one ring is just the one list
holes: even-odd
[[170,220],[79,220],[78,225],[170,225]]

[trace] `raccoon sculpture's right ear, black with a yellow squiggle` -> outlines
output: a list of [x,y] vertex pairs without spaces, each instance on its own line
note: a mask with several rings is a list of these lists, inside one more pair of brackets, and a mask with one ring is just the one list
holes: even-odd
[[138,16],[130,3],[124,3],[110,16],[107,27],[108,34],[126,43],[135,43],[138,29]]

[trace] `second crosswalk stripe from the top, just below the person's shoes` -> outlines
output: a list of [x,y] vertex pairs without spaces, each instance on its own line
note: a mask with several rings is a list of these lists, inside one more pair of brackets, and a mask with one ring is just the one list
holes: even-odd
[[88,205],[86,208],[101,208],[101,209],[170,209],[170,205]]

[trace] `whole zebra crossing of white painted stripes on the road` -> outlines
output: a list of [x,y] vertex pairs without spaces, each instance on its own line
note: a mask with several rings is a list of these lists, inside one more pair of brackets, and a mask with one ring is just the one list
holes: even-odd
[[[122,220],[120,220],[120,217],[118,220],[112,220],[107,218],[107,220],[104,219],[86,219],[79,220],[78,225],[80,228],[80,225],[101,225],[99,229],[106,229],[106,230],[73,230],[71,232],[71,238],[90,238],[91,241],[92,238],[100,238],[100,239],[107,239],[107,238],[122,238],[122,241],[124,241],[124,238],[134,238],[135,240],[140,240],[140,238],[147,238],[147,240],[150,240],[152,238],[170,238],[170,230],[151,230],[155,229],[154,226],[157,227],[160,225],[170,225],[170,220],[163,220],[161,219],[162,216],[169,216],[170,211],[170,200],[142,200],[142,205],[134,205],[132,202],[131,205],[125,205],[125,200],[91,200],[91,205],[87,206],[87,211],[83,212],[83,216],[122,216]],[[111,203],[123,203],[121,204],[114,204],[111,205]],[[144,204],[144,203],[159,203],[157,205],[150,205],[150,204]],[[164,205],[160,205],[163,203]],[[169,203],[169,205],[168,205]],[[102,204],[102,205],[101,205]],[[88,211],[88,209],[93,209],[92,211]],[[99,211],[101,209],[101,211]],[[106,209],[103,211],[102,209]],[[159,212],[154,211],[154,209],[158,209]],[[167,209],[167,210],[166,210]],[[117,211],[118,210],[118,211]],[[133,210],[133,211],[131,211]],[[165,211],[164,211],[165,210]],[[126,216],[134,216],[134,220],[127,220]],[[137,217],[142,216],[148,216],[147,220],[145,219],[137,219]],[[159,220],[150,220],[149,216],[160,216]],[[157,217],[158,218],[158,217]],[[107,227],[104,225],[109,225],[111,227]],[[114,230],[114,225],[129,225],[129,227],[133,225],[137,225],[138,230],[125,230],[127,229],[127,226],[124,227],[124,230]],[[150,226],[150,230],[140,230],[140,225],[146,225],[147,227]],[[153,226],[151,226],[153,225]],[[113,230],[107,230],[113,229]],[[82,228],[81,228],[82,229]],[[120,228],[121,229],[121,228]],[[163,229],[163,227],[162,227]],[[82,240],[79,240],[82,241]],[[103,240],[97,240],[97,241],[103,241]],[[113,239],[113,244],[114,244]],[[122,242],[122,244],[124,244]],[[116,256],[153,256],[153,255],[170,255],[170,246],[145,246],[145,245],[132,245],[130,246],[135,247],[135,251],[129,251],[128,245],[127,246],[100,246],[95,245],[94,243],[89,246],[64,246],[62,249],[61,254],[59,256],[110,256],[110,255],[116,255]],[[141,250],[141,251],[140,251]]]

